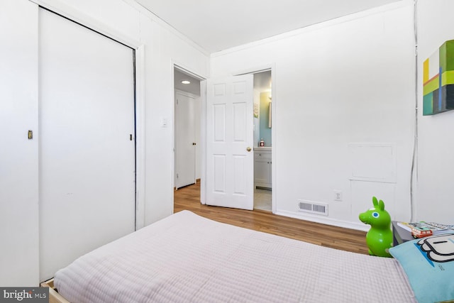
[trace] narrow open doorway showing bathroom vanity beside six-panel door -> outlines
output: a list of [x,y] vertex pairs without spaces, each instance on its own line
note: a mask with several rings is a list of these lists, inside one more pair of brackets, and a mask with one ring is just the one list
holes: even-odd
[[254,74],[254,209],[272,211],[271,70]]

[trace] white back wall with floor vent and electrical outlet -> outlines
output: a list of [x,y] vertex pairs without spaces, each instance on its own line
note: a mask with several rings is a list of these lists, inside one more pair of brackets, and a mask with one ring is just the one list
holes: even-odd
[[[235,75],[273,63],[277,214],[367,229],[358,214],[377,196],[393,218],[408,220],[415,104],[413,2],[215,53],[211,75]],[[391,147],[364,148],[353,157],[358,150],[350,143]],[[358,161],[367,158],[362,167]],[[362,167],[366,178],[351,180],[355,166]],[[334,189],[343,192],[342,202],[333,201]],[[299,199],[329,204],[328,217],[297,211]]]

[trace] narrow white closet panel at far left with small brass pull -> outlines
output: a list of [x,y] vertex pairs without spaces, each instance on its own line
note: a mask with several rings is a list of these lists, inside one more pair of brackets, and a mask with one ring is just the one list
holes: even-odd
[[[0,285],[38,285],[38,7],[0,1]],[[28,140],[28,130],[34,133]]]

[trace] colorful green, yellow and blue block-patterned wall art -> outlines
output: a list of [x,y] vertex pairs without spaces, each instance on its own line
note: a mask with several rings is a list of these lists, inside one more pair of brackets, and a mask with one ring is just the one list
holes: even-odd
[[423,63],[423,116],[454,109],[454,40]]

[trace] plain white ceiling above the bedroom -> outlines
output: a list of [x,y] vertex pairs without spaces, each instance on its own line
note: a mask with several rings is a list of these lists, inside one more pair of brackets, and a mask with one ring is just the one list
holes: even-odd
[[215,53],[403,0],[135,0]]

